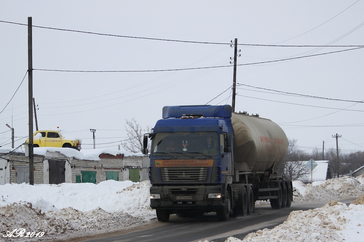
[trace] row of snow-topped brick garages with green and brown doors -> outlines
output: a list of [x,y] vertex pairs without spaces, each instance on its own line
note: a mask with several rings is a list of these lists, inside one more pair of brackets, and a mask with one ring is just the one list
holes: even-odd
[[[18,150],[19,151],[19,150]],[[0,185],[29,182],[29,159],[22,152],[0,148]],[[93,149],[40,147],[34,149],[34,183],[148,180],[149,157],[141,153]]]

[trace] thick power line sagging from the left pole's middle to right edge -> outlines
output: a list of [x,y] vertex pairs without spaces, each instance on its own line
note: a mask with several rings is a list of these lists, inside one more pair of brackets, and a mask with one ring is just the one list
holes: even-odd
[[[288,59],[282,59],[282,60],[275,60],[275,61],[264,61],[264,62],[255,62],[255,63],[246,63],[246,64],[237,64],[237,66],[246,66],[246,65],[255,65],[255,64],[262,64],[262,63],[269,63],[269,62],[277,62],[277,61],[286,61],[286,60],[294,60],[294,59],[300,59],[305,57],[312,57],[312,56],[321,56],[325,54],[332,54],[332,53],[339,53],[344,52],[348,50],[356,50],[361,49],[363,47],[358,48],[352,48],[352,49],[346,49],[346,50],[339,50],[339,51],[333,51],[333,52],[327,52],[327,53],[321,53],[321,54],[314,54],[309,56],[300,56],[300,57],[294,57],[294,58],[288,58]],[[218,67],[231,67],[231,66],[208,66],[208,67],[195,67],[195,68],[184,68],[184,69],[166,69],[166,70],[134,70],[134,71],[80,71],[80,70],[52,70],[52,69],[33,69],[33,70],[40,70],[40,71],[65,71],[65,72],[154,72],[154,71],[180,71],[180,70],[197,70],[197,69],[209,69],[209,68],[218,68]]]

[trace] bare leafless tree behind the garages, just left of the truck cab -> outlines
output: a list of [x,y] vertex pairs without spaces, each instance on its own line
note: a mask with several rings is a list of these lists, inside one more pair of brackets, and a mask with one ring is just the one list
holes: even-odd
[[[121,146],[129,152],[139,153],[143,150],[143,137],[144,134],[150,132],[150,126],[143,128],[135,118],[130,121],[125,119],[125,129],[128,139],[121,143]],[[148,147],[150,150],[150,140],[148,140]]]

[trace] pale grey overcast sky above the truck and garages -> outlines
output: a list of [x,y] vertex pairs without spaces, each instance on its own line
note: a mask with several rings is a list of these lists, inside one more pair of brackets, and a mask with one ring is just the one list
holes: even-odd
[[[230,43],[237,38],[238,44],[364,45],[364,27],[355,29],[364,22],[364,1],[355,2],[1,1],[0,20],[27,24],[31,16],[36,26],[169,40]],[[27,26],[0,22],[0,33],[1,111],[28,69]],[[240,45],[241,57],[237,62],[274,61],[351,48]],[[59,126],[73,132],[83,138],[83,149],[92,148],[87,144],[92,144],[90,128],[93,128],[96,147],[117,149],[120,142],[101,143],[125,139],[125,119],[135,118],[142,126],[154,126],[162,118],[163,106],[206,104],[229,89],[233,82],[233,66],[229,63],[233,54],[234,49],[229,45],[33,27],[34,69],[103,71],[228,66],[139,73],[34,70],[33,97],[39,107],[39,127]],[[238,66],[237,83],[286,93],[362,101],[363,55],[364,48]],[[342,135],[340,149],[364,150],[364,103],[278,95],[247,86],[239,88],[243,89],[237,89],[242,96],[236,98],[236,111],[259,114],[280,124],[288,138],[297,139],[300,147],[322,149],[325,141],[325,148],[336,148],[332,135],[337,133]],[[226,99],[229,95],[230,89],[209,104],[231,105],[231,98]],[[355,111],[341,110],[344,108]],[[15,128],[15,136],[19,137],[15,140],[28,135],[27,110],[28,77],[25,77],[0,114],[0,145],[11,145],[8,144],[11,131],[6,123]],[[349,124],[355,126],[348,127]],[[16,141],[15,147],[24,141]]]

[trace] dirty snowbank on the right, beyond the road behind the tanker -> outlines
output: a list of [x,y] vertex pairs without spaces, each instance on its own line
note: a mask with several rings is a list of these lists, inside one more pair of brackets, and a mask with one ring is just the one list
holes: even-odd
[[364,176],[340,177],[326,181],[315,181],[313,184],[303,184],[293,181],[293,201],[315,201],[327,198],[360,197],[364,194]]

